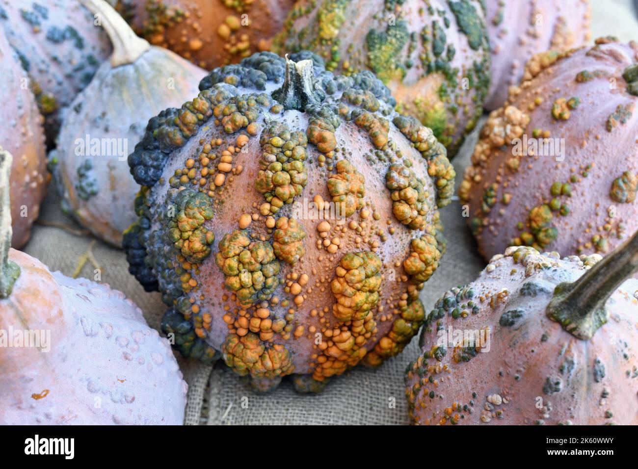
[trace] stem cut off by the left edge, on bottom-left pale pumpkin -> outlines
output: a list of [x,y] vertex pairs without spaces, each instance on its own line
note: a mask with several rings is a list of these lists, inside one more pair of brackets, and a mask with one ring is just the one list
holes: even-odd
[[9,174],[13,156],[0,147],[0,298],[8,298],[13,284],[20,276],[20,267],[9,260],[11,248],[11,204],[9,200]]

